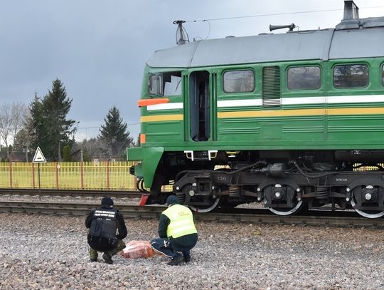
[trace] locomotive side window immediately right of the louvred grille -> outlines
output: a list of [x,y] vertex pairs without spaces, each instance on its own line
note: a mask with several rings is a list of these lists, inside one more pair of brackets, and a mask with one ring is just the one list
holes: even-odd
[[287,86],[289,90],[316,90],[321,86],[321,69],[319,66],[288,68]]

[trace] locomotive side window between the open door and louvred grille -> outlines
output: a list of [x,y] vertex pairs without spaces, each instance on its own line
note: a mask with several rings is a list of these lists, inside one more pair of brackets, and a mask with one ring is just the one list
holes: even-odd
[[255,89],[253,71],[226,71],[223,75],[225,93],[246,93]]

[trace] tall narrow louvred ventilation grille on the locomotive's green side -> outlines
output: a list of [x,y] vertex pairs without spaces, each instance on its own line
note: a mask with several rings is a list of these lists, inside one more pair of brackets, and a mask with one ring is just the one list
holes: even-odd
[[271,107],[279,106],[281,103],[280,68],[278,66],[262,68],[262,105]]

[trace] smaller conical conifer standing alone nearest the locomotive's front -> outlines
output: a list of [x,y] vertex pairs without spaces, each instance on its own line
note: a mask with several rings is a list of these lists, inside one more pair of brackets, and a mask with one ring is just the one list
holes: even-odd
[[104,118],[105,125],[100,126],[100,134],[97,136],[107,145],[107,156],[121,155],[126,148],[132,144],[133,139],[129,137],[127,123],[120,117],[119,110],[113,106]]

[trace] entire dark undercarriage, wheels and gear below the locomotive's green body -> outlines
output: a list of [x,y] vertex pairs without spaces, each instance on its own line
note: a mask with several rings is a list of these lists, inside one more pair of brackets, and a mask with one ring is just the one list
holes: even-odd
[[[225,160],[222,154],[220,164],[227,166],[216,170],[213,168],[218,160],[196,159],[183,164],[180,158],[169,155],[168,160],[162,160],[167,163],[163,166],[167,174],[162,176],[164,180],[174,180],[173,192],[179,202],[196,212],[261,202],[279,215],[294,214],[304,206],[309,209],[327,206],[333,210],[354,209],[363,217],[377,218],[384,216],[384,170],[372,160],[378,160],[382,154],[348,150],[316,154],[238,152],[233,160]],[[251,162],[255,157],[257,161]],[[169,161],[176,162],[175,158],[178,164],[172,167]],[[356,166],[356,162],[361,163]],[[201,170],[202,165],[208,169]],[[363,171],[354,171],[356,167],[363,167]],[[154,194],[163,201],[169,195],[157,194],[152,188],[152,197]]]

